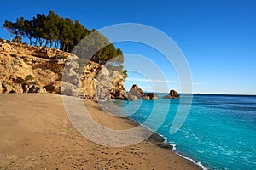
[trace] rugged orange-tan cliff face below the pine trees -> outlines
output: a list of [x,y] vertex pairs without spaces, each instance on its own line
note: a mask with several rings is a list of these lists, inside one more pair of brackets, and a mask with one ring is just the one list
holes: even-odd
[[[0,41],[0,93],[61,94],[67,59],[77,56],[53,48]],[[80,69],[81,70],[81,69]],[[126,99],[126,76],[94,62],[82,68],[78,94],[86,99]],[[68,94],[68,93],[67,93]]]

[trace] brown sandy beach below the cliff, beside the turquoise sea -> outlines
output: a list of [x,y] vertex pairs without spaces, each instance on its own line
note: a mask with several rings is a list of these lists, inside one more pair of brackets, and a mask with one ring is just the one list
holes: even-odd
[[[85,105],[104,126],[136,126],[92,100]],[[154,136],[122,148],[102,146],[76,131],[60,95],[0,94],[0,169],[201,169],[159,144]]]

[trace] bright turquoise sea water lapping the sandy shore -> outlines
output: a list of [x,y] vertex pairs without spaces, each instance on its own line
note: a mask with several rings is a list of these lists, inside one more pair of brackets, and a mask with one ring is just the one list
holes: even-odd
[[[256,96],[195,94],[183,126],[170,134],[170,127],[180,105],[179,99],[114,101],[131,119],[155,127],[155,120],[165,116],[157,133],[175,145],[175,151],[207,169],[256,169]],[[157,107],[154,107],[157,105]],[[154,119],[148,116],[154,108]]]

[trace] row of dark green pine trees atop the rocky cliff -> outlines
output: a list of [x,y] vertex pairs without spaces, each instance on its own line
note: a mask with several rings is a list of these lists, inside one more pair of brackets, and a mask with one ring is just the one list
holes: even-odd
[[36,14],[32,20],[24,17],[17,18],[16,22],[5,20],[3,27],[10,33],[10,41],[14,35],[16,38],[13,41],[17,37],[21,40],[26,37],[30,45],[73,51],[79,57],[123,69],[123,53],[107,37],[95,29],[86,29],[78,20],[63,18],[54,11],[49,11],[48,15]]

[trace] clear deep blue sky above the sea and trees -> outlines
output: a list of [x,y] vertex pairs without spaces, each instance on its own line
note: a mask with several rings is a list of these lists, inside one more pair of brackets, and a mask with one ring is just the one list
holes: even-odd
[[[183,51],[193,77],[194,93],[256,94],[254,0],[13,0],[1,2],[0,24],[20,16],[32,19],[36,14],[48,14],[49,10],[79,20],[89,29],[127,22],[153,26],[172,37]],[[9,33],[1,28],[0,37],[9,39]],[[132,42],[116,46],[124,54],[139,54],[157,63],[169,87],[179,91],[175,70],[157,50]],[[129,63],[125,62],[125,66],[129,67]],[[158,82],[155,90],[163,91],[161,80],[154,81]],[[129,72],[125,88],[131,88],[132,83],[152,90],[143,75]]]

